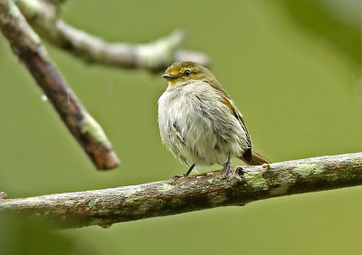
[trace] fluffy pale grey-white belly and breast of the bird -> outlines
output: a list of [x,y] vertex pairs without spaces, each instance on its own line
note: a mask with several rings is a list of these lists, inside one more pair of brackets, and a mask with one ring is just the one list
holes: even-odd
[[243,130],[230,110],[221,100],[196,100],[195,94],[167,92],[159,99],[158,122],[167,148],[186,165],[224,165],[230,152],[242,155]]

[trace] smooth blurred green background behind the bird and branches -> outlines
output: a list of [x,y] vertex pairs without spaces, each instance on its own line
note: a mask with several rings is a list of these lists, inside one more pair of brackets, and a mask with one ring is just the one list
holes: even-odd
[[[361,151],[359,0],[68,1],[62,18],[117,42],[176,28],[243,112],[271,161]],[[87,65],[45,44],[122,165],[98,172],[0,37],[0,190],[9,198],[142,184],[182,174],[162,146],[145,70]],[[233,161],[233,164],[240,164]],[[0,219],[1,254],[360,254],[362,188],[300,194],[195,213],[67,231]]]

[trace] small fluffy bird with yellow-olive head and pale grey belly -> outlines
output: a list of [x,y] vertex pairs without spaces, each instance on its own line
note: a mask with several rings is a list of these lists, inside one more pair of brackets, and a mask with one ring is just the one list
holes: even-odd
[[[163,78],[167,90],[158,99],[158,124],[162,142],[189,169],[195,165],[223,165],[231,174],[231,156],[246,165],[271,162],[252,151],[243,115],[211,71],[192,61],[175,62]],[[174,175],[174,179],[182,177]]]

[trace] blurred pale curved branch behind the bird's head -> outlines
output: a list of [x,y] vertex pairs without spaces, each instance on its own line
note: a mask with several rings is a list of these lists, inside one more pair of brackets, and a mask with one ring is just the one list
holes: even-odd
[[105,42],[59,19],[57,2],[54,5],[47,0],[17,0],[16,5],[37,33],[83,61],[150,70],[163,69],[173,61],[197,61],[203,65],[209,63],[208,57],[201,52],[178,50],[185,37],[180,31],[147,44]]

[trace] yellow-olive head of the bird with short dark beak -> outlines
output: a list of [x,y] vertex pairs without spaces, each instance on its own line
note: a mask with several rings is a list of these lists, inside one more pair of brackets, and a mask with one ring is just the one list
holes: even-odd
[[166,73],[162,77],[168,80],[168,90],[173,90],[199,80],[206,82],[215,80],[211,71],[208,71],[201,64],[192,61],[173,63],[167,68]]

